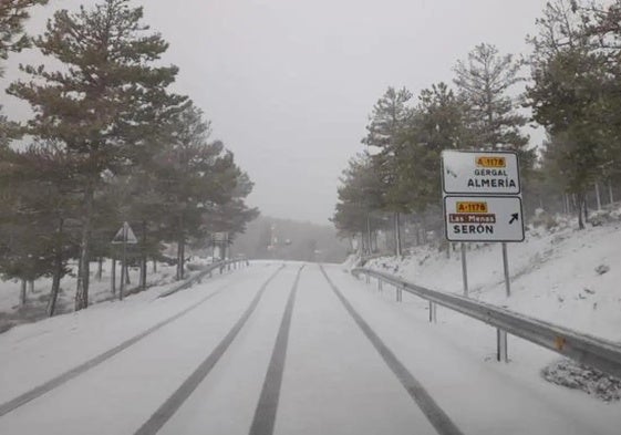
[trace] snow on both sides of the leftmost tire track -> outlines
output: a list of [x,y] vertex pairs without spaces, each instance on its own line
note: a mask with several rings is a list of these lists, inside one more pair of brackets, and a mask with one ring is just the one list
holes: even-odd
[[0,418],[2,434],[133,433],[178,387],[276,267],[216,275],[157,299],[147,291],[0,335],[0,403],[213,294],[196,310]]

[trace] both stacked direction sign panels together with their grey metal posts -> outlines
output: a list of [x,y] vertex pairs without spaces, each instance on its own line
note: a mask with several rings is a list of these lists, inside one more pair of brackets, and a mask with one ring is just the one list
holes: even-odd
[[[505,289],[511,296],[507,242],[524,241],[519,165],[513,152],[444,151],[442,191],[445,235],[462,244],[464,296],[468,297],[466,242],[500,242]],[[508,362],[507,332],[497,330],[497,359]]]

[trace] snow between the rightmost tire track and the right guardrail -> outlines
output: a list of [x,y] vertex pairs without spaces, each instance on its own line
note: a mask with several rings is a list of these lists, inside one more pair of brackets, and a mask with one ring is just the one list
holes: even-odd
[[[509,338],[510,363],[495,361],[496,331],[438,308],[429,323],[418,298],[397,303],[394,290],[358,284],[332,273],[361,315],[465,434],[618,434],[621,404],[542,380],[540,367],[556,354]],[[361,291],[360,286],[366,288]]]

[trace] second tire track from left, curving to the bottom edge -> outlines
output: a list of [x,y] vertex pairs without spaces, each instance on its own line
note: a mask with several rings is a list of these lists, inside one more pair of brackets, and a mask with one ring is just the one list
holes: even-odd
[[209,374],[211,369],[218,363],[220,358],[225,354],[230,346],[241,328],[252,314],[261,297],[266,292],[269,283],[276,278],[278,273],[284,268],[280,267],[276,272],[268,278],[261,286],[255,299],[250,302],[241,318],[235,323],[227,335],[218,343],[211,353],[200,363],[200,365],[184,381],[184,383],[157,408],[157,411],[135,432],[135,435],[151,435],[159,432],[162,427],[170,420],[184,402],[192,395],[198,387],[203,380]]

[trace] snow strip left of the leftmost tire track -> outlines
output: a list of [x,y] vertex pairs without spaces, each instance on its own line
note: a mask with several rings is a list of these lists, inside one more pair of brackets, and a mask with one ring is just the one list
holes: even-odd
[[[241,282],[265,276],[266,267],[271,268],[251,268]],[[214,275],[203,284],[163,299],[158,296],[177,283],[154,287],[123,302],[102,302],[0,334],[0,403],[175,315],[204,299],[206,290],[221,292],[239,280],[237,272]]]

